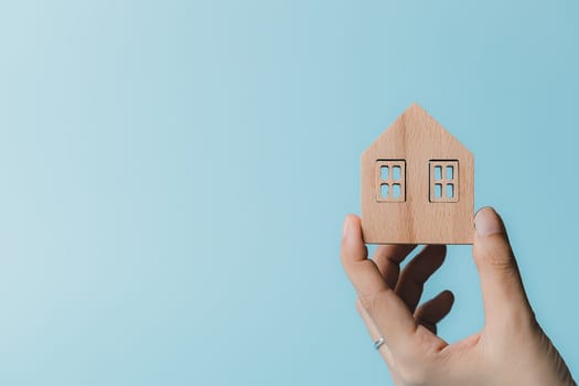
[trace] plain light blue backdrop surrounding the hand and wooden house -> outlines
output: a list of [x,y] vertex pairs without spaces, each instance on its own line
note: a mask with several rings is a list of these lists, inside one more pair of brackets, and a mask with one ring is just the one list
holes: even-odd
[[[579,371],[577,1],[3,1],[0,383],[389,385],[339,265],[418,101]],[[426,290],[482,326],[470,247]]]

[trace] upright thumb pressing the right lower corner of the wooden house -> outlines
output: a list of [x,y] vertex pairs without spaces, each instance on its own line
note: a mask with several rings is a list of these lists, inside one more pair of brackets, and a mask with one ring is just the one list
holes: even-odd
[[474,216],[473,256],[481,279],[486,325],[530,322],[528,304],[503,221],[492,207]]

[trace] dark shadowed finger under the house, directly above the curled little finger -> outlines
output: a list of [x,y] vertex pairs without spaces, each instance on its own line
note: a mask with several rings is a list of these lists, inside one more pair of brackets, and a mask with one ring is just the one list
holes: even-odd
[[404,300],[410,313],[415,312],[420,301],[425,282],[440,268],[446,255],[446,245],[428,245],[404,268],[396,293]]

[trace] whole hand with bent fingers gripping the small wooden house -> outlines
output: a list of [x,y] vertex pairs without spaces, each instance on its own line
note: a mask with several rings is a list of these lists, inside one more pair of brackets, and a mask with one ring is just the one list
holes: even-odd
[[475,215],[473,257],[485,323],[454,344],[437,336],[437,323],[452,308],[450,291],[418,305],[428,278],[442,265],[446,246],[429,245],[400,272],[414,245],[383,245],[367,257],[360,218],[344,223],[341,258],[357,292],[356,309],[396,385],[576,385],[562,357],[543,332],[501,217],[491,207]]

